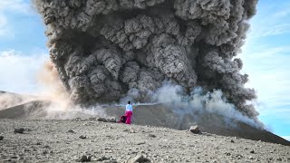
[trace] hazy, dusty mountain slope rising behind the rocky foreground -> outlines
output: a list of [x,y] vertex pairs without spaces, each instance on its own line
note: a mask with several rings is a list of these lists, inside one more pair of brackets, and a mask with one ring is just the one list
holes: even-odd
[[[92,115],[83,110],[71,112],[57,111],[52,113],[47,110],[50,104],[50,101],[30,101],[6,110],[0,110],[0,119],[47,120],[104,116],[104,114]],[[102,110],[107,117],[116,118],[119,118],[124,112],[124,108],[121,106],[102,106]],[[68,116],[68,114],[70,115]],[[244,139],[262,140],[290,146],[289,141],[280,138],[265,129],[256,129],[237,120],[231,120],[229,125],[228,120],[215,114],[204,113],[200,115],[185,115],[181,118],[179,114],[169,109],[165,104],[136,106],[134,108],[132,121],[134,124],[138,125],[166,127],[171,129],[189,129],[190,125],[198,124],[201,131],[208,133]]]

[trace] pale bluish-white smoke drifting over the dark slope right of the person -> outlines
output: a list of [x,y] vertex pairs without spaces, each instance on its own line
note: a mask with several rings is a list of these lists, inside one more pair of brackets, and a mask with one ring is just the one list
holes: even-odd
[[[233,103],[227,101],[220,90],[204,91],[201,87],[196,87],[190,93],[184,93],[184,89],[171,82],[163,82],[160,89],[152,97],[152,101],[168,105],[177,115],[179,121],[185,116],[195,117],[197,123],[203,124],[205,120],[200,119],[200,115],[218,115],[228,125],[233,125],[232,120],[238,120],[258,129],[264,128],[259,120],[253,120],[237,111]],[[209,113],[209,114],[208,114]]]

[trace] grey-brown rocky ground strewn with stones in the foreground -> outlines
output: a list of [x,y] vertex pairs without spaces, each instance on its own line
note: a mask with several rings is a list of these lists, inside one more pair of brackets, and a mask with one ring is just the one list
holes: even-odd
[[93,119],[4,119],[0,136],[0,162],[290,162],[289,146]]

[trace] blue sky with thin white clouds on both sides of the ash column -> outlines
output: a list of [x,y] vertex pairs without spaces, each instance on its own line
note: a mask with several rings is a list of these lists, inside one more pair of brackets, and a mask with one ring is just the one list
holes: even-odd
[[[238,57],[266,129],[290,139],[290,1],[260,0]],[[0,1],[0,90],[34,93],[49,59],[44,26],[29,0]]]

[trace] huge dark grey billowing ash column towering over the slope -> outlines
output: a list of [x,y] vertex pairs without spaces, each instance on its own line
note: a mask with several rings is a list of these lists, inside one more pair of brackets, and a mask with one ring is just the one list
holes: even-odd
[[[164,81],[221,90],[256,118],[235,56],[257,0],[34,0],[73,101],[150,101]],[[235,58],[235,59],[234,59]]]

